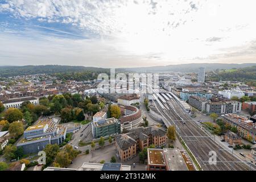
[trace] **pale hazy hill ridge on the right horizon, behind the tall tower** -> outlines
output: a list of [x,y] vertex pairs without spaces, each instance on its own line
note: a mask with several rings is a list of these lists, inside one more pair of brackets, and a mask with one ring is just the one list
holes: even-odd
[[118,68],[119,72],[198,72],[200,67],[205,67],[206,71],[214,71],[216,69],[232,69],[232,68],[246,68],[252,67],[256,63],[244,64],[220,64],[220,63],[192,63],[192,64],[178,64],[158,67],[141,67],[141,68]]

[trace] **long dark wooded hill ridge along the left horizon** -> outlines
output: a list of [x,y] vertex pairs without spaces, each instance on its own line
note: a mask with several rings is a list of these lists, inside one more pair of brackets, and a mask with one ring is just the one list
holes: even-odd
[[72,72],[106,72],[109,69],[94,67],[77,67],[65,65],[27,65],[27,66],[2,66],[0,77],[13,77],[22,75],[34,75],[43,73],[72,73]]

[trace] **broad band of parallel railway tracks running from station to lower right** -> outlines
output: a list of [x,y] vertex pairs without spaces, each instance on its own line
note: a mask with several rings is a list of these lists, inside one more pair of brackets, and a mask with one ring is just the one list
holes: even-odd
[[[213,140],[212,137],[201,130],[200,127],[197,126],[191,118],[189,118],[189,116],[183,111],[179,103],[173,97],[170,97],[170,95],[168,97],[169,99],[162,97],[165,100],[164,102],[159,99],[162,105],[156,102],[156,106],[170,125],[176,126],[177,133],[179,133],[180,137],[184,140],[185,144],[195,156],[197,162],[200,164],[203,170],[249,171],[254,169],[242,162],[236,156],[230,154],[229,151],[222,148]],[[217,164],[209,164],[208,160],[210,158],[210,151],[216,152]]]

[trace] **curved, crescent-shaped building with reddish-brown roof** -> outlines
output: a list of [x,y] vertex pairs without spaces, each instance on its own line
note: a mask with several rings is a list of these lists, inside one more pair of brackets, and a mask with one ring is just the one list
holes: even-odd
[[124,115],[119,119],[121,123],[121,133],[123,130],[131,130],[138,127],[143,121],[141,109],[134,106],[119,106]]

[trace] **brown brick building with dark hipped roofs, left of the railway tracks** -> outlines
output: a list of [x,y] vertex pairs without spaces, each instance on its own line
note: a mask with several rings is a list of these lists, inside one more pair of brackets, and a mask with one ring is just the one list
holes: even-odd
[[166,145],[166,131],[156,126],[138,127],[129,133],[115,138],[115,148],[119,159],[123,161],[133,158],[138,151],[154,144],[156,148]]

